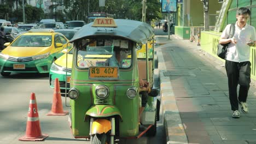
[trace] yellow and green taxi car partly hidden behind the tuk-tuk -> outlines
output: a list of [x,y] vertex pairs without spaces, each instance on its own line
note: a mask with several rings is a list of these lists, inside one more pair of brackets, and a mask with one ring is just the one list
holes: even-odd
[[54,88],[55,79],[58,78],[60,83],[61,93],[65,93],[66,85],[67,85],[67,92],[69,91],[72,59],[73,59],[73,49],[69,49],[68,52],[65,53],[65,55],[62,55],[60,58],[56,59],[56,61],[53,64],[51,64],[50,73],[49,73],[49,82],[50,82],[51,88]]

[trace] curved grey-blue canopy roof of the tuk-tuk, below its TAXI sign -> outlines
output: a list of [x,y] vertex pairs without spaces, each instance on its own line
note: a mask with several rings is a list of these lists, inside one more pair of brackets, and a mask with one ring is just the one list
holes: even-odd
[[150,38],[154,37],[154,30],[148,23],[123,19],[114,19],[114,21],[117,28],[92,27],[93,22],[84,25],[69,42],[72,43],[84,37],[110,35],[123,37],[138,44],[146,44]]

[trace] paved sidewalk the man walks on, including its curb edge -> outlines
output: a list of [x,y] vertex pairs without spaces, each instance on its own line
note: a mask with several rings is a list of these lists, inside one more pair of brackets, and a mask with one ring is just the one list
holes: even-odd
[[256,143],[256,89],[249,113],[232,118],[224,63],[197,43],[156,36],[161,105],[167,143]]

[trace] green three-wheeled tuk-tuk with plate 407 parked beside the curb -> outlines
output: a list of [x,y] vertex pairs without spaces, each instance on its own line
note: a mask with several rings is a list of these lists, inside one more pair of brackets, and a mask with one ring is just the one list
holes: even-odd
[[[148,45],[154,51],[153,28],[139,21],[100,18],[83,26],[70,42],[69,122],[74,137],[114,143],[118,137],[154,136],[159,119],[156,97],[148,98],[139,118],[139,79],[150,86],[154,82],[154,58],[148,56]],[[143,45],[146,55],[137,58]],[[147,126],[142,133],[139,122]]]

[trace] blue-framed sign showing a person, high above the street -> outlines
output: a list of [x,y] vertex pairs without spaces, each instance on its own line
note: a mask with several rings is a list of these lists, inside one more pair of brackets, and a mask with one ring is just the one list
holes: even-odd
[[162,0],[162,13],[177,12],[177,0]]

